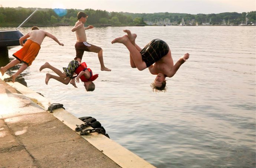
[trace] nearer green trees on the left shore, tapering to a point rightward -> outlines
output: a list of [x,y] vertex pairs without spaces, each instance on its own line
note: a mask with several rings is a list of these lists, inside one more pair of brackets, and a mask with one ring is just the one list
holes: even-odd
[[[0,7],[0,26],[19,26],[28,16],[30,16],[36,8],[10,8]],[[57,12],[56,12],[57,11]],[[93,9],[40,9],[24,24],[52,26],[55,24],[74,25],[77,21],[77,13],[83,11],[88,14],[87,24],[92,25],[112,25],[112,26],[135,26],[138,24],[146,24],[142,18],[132,18],[118,12],[107,12],[103,10]],[[60,12],[60,13],[59,13]],[[64,13],[64,15],[63,15]]]

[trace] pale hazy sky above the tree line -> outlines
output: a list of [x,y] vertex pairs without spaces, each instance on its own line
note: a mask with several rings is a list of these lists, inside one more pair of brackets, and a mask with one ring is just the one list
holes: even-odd
[[210,14],[256,10],[256,0],[0,0],[2,7],[106,10],[130,13]]

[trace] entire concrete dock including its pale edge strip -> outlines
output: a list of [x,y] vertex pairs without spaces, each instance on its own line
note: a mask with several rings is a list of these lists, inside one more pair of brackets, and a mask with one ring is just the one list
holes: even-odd
[[0,77],[0,168],[154,168],[103,134],[80,135],[81,120]]

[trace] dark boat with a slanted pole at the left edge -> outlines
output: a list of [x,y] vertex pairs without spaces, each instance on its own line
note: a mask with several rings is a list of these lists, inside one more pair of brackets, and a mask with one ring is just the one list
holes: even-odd
[[2,30],[0,31],[0,48],[7,48],[8,50],[20,45],[19,39],[23,34],[18,30],[31,16],[37,11],[36,9],[26,20],[16,28],[16,30]]

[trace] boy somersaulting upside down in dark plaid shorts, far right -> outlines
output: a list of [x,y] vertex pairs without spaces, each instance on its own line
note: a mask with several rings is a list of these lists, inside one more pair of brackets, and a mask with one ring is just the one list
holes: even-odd
[[154,83],[151,84],[153,91],[166,91],[166,77],[173,77],[180,66],[189,58],[186,53],[180,57],[177,63],[173,64],[171,50],[168,45],[160,39],[152,40],[143,49],[136,43],[136,34],[124,30],[127,35],[115,38],[111,43],[122,43],[130,52],[130,64],[132,68],[142,71],[148,68],[151,74],[157,75]]

